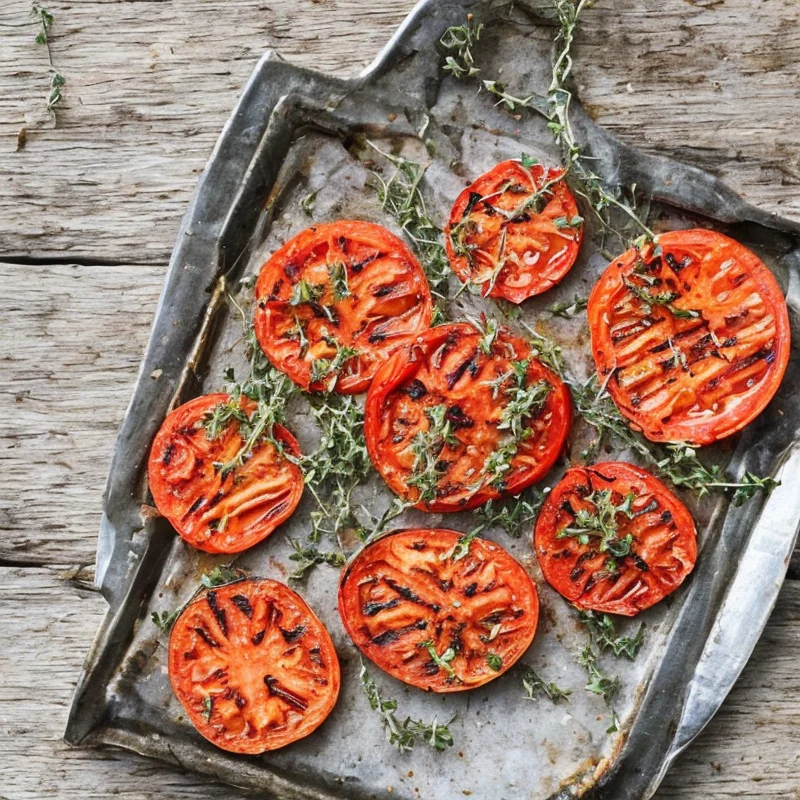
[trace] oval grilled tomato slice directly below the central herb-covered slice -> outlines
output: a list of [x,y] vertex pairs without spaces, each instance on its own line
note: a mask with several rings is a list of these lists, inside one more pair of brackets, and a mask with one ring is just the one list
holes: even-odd
[[528,573],[494,542],[404,530],[365,547],[344,570],[339,613],[356,646],[398,680],[432,692],[502,675],[536,633]]

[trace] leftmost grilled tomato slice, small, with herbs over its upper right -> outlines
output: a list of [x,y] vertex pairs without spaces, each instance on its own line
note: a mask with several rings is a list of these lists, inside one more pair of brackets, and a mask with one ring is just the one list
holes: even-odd
[[[220,405],[230,408],[230,419],[211,431],[208,422]],[[198,397],[169,414],[153,441],[147,475],[156,507],[183,539],[207,553],[240,553],[266,539],[303,493],[303,473],[286,457],[299,457],[300,447],[286,428],[273,428],[280,447],[263,439],[245,449],[236,415],[245,421],[255,408],[227,394]]]

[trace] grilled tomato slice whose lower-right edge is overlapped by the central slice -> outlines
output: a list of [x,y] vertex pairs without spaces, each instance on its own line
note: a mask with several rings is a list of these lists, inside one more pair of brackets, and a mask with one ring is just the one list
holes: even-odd
[[386,357],[430,327],[428,282],[414,254],[371,222],[315,225],[261,268],[261,349],[303,389],[366,391]]

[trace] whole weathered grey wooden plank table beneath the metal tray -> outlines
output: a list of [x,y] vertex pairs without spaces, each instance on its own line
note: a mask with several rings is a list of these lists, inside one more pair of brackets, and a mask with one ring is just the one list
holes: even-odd
[[[179,219],[256,59],[275,48],[352,74],[412,0],[50,7],[52,58],[67,79],[55,129],[29,2],[0,4],[0,798],[239,798],[61,742],[104,612],[91,583],[102,486]],[[600,3],[578,34],[581,96],[626,141],[800,220],[799,21],[797,0]],[[800,798],[798,614],[800,581],[788,580],[661,800]]]

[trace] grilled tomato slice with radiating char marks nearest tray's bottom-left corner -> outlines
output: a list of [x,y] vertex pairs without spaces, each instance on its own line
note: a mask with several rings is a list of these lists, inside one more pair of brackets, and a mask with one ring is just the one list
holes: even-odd
[[321,725],[339,696],[339,660],[300,595],[270,580],[210,589],[169,637],[172,689],[192,724],[232,753],[276,750]]

